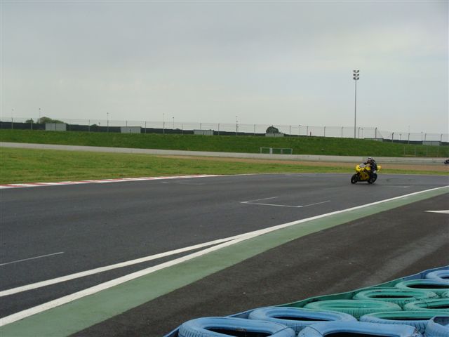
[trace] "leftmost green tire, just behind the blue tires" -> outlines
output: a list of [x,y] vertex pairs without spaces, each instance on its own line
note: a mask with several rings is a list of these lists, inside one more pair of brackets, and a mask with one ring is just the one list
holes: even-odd
[[401,310],[401,307],[397,304],[380,300],[319,300],[308,303],[304,308],[344,312],[356,317],[356,319],[373,312]]

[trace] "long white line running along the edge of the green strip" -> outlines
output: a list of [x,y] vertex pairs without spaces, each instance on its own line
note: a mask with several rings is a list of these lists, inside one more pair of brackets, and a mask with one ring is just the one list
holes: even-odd
[[248,233],[245,233],[245,234],[237,235],[236,237],[234,237],[234,239],[232,239],[230,241],[223,242],[222,244],[217,244],[216,246],[210,247],[208,249],[203,249],[202,251],[197,251],[196,253],[191,253],[191,254],[189,254],[187,256],[182,256],[181,258],[176,258],[175,260],[171,260],[171,261],[168,261],[166,263],[161,263],[160,265],[155,265],[153,267],[149,267],[147,269],[140,270],[138,272],[133,272],[132,274],[125,275],[123,277],[119,277],[118,279],[112,279],[112,280],[110,280],[108,282],[105,282],[105,283],[102,283],[102,284],[98,284],[97,286],[92,286],[91,288],[84,289],[82,291],[78,291],[76,293],[72,293],[72,294],[64,296],[62,298],[58,298],[56,300],[51,300],[50,302],[43,303],[41,305],[36,305],[33,308],[22,310],[22,311],[17,312],[17,313],[15,313],[13,315],[9,315],[9,316],[0,318],[0,326],[4,326],[6,324],[13,323],[15,321],[18,321],[19,319],[24,319],[24,318],[32,316],[32,315],[36,315],[39,312],[43,312],[45,310],[58,307],[58,306],[63,305],[65,303],[72,302],[73,300],[77,300],[79,298],[83,298],[85,296],[92,295],[93,293],[97,293],[98,291],[102,291],[102,290],[105,290],[105,289],[112,288],[113,286],[117,286],[117,285],[122,284],[124,282],[128,282],[128,281],[130,281],[132,279],[136,279],[138,277],[149,275],[152,272],[156,272],[157,270],[161,270],[161,269],[166,268],[166,267],[177,265],[178,263],[182,263],[182,262],[185,262],[187,260],[192,260],[192,258],[203,256],[203,255],[205,255],[207,253],[210,253],[212,251],[217,251],[218,249],[222,249],[223,247],[226,247],[226,246],[231,246],[232,244],[236,244],[236,243],[242,242],[242,241],[244,241],[246,239],[257,237],[259,235],[266,234],[268,232],[273,232],[274,230],[279,230],[279,229],[290,227],[290,226],[293,226],[293,225],[298,225],[300,223],[306,223],[306,222],[308,222],[310,220],[326,218],[328,216],[333,216],[335,214],[345,213],[347,211],[354,211],[356,209],[364,209],[366,207],[374,206],[374,205],[377,205],[377,204],[382,204],[382,203],[387,202],[387,201],[403,199],[403,198],[406,198],[406,197],[410,197],[412,195],[422,194],[424,192],[430,192],[430,191],[434,191],[434,190],[441,190],[443,188],[448,188],[448,187],[449,187],[449,185],[448,186],[443,186],[443,187],[436,187],[436,188],[432,188],[430,190],[424,190],[424,191],[420,191],[420,192],[413,192],[413,193],[405,194],[405,195],[402,195],[402,196],[399,196],[399,197],[394,197],[394,198],[390,198],[390,199],[384,199],[384,200],[372,202],[370,204],[365,204],[365,205],[361,205],[361,206],[351,207],[350,209],[343,209],[341,211],[333,211],[333,212],[330,212],[330,213],[321,214],[319,216],[312,216],[311,218],[297,220],[297,221],[293,221],[291,223],[284,223],[282,225],[276,225],[276,226],[273,226],[273,227],[264,228],[263,230],[256,230],[254,232],[248,232]]

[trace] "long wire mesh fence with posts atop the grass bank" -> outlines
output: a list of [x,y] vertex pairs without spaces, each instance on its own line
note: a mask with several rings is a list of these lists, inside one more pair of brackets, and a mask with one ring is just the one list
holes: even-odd
[[[194,133],[194,130],[212,130],[215,135],[263,136],[267,128],[274,126],[285,136],[316,136],[354,138],[354,126],[269,125],[269,124],[225,124],[175,121],[133,121],[107,119],[56,118],[67,124],[67,131],[120,132],[121,126],[140,126],[142,133]],[[27,118],[0,119],[0,128],[45,129],[44,124],[30,122]],[[447,145],[448,133],[410,133],[387,131],[377,127],[356,128],[356,138],[375,139],[394,143],[426,143]]]

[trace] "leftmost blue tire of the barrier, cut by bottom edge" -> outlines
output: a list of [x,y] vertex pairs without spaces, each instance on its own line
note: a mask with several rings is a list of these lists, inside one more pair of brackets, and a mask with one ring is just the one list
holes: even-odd
[[[192,319],[180,326],[179,337],[222,337],[222,336],[273,336],[295,337],[288,326],[236,317],[202,317]],[[240,334],[239,334],[240,333]]]

